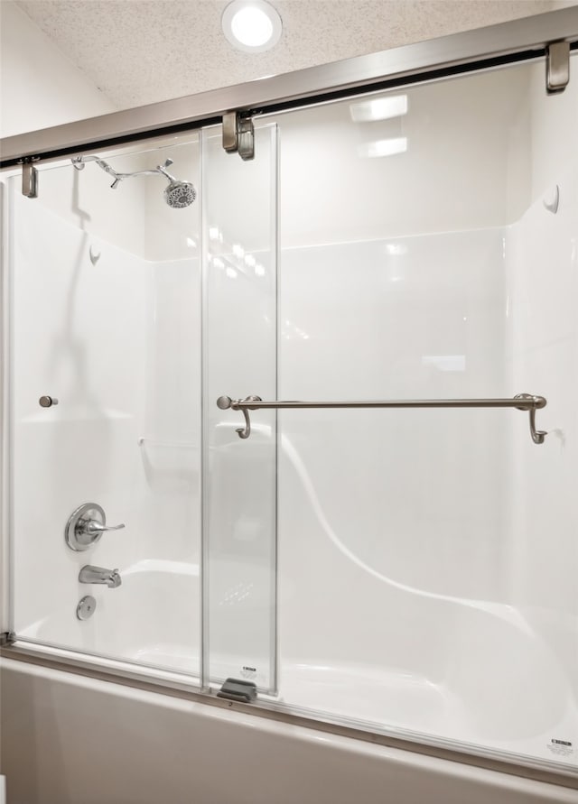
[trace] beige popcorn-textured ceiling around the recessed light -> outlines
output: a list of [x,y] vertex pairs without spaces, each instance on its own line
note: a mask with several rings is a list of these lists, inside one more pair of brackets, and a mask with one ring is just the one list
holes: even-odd
[[234,51],[227,0],[19,0],[42,31],[118,108],[541,14],[553,0],[272,0],[284,32],[273,51]]

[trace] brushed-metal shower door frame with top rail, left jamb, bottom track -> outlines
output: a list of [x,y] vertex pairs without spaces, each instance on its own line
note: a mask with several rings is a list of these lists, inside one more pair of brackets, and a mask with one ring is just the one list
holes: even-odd
[[[578,7],[566,8],[549,14],[540,14],[511,23],[503,23],[473,32],[446,36],[429,42],[418,42],[390,51],[370,54],[322,67],[303,69],[286,75],[249,82],[235,87],[220,88],[197,96],[163,101],[151,106],[98,116],[66,125],[53,126],[40,131],[20,134],[0,141],[0,168],[20,171],[19,165],[32,160],[53,162],[70,159],[79,152],[112,147],[154,136],[191,131],[207,125],[219,124],[232,110],[241,116],[274,114],[284,109],[329,103],[350,95],[359,95],[378,89],[415,84],[468,71],[492,69],[508,63],[544,59],[548,46],[555,42],[578,45]],[[571,80],[578,77],[571,76]],[[231,157],[236,158],[236,157]],[[2,186],[0,189],[5,190]],[[42,192],[42,189],[41,189]],[[3,207],[3,256],[7,256],[5,193],[0,196]],[[7,259],[3,264],[8,263]],[[8,276],[3,275],[2,300],[6,313],[8,306]],[[3,531],[10,531],[9,487],[9,360],[10,325],[3,317],[2,347],[2,523]],[[539,389],[538,389],[539,390]],[[3,556],[8,550],[8,539],[2,541]],[[10,584],[10,562],[3,562],[5,578],[3,589]],[[3,592],[5,595],[5,592]],[[5,603],[5,600],[3,600]],[[6,605],[3,606],[6,612]],[[15,661],[31,662],[44,667],[66,670],[96,679],[114,681],[129,687],[147,689],[170,696],[196,700],[210,706],[233,708],[240,712],[302,725],[322,732],[344,735],[397,749],[423,753],[452,762],[463,762],[500,772],[548,781],[578,789],[578,776],[556,772],[545,762],[509,762],[498,753],[482,751],[468,753],[442,739],[424,741],[416,735],[399,735],[384,729],[376,733],[368,725],[352,727],[345,720],[326,715],[298,711],[292,707],[268,700],[255,704],[234,703],[216,698],[209,689],[191,688],[190,685],[168,679],[152,679],[145,670],[118,669],[86,661],[64,652],[52,653],[33,646],[14,642],[7,622],[1,624],[2,655]]]

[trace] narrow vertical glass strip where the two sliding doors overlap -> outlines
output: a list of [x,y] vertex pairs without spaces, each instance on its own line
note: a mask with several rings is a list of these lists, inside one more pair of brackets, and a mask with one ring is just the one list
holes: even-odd
[[255,158],[203,140],[205,237],[205,681],[275,690],[275,412],[217,399],[275,399],[276,128],[255,132]]

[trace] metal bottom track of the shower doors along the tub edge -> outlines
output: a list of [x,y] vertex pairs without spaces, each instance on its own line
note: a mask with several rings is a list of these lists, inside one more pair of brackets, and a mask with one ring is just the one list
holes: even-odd
[[[347,718],[331,716],[328,713],[315,713],[312,710],[288,706],[274,700],[259,698],[251,704],[243,704],[224,698],[217,698],[214,688],[201,688],[191,683],[194,679],[178,673],[173,678],[154,678],[150,670],[138,672],[134,667],[123,667],[123,661],[115,662],[117,666],[105,666],[102,662],[86,661],[77,658],[73,652],[59,651],[56,655],[50,648],[32,643],[23,643],[13,633],[0,634],[0,659],[22,661],[48,670],[59,670],[71,675],[78,675],[98,681],[108,681],[120,686],[136,688],[145,692],[154,692],[171,698],[194,701],[210,707],[234,710],[245,715],[262,717],[286,725],[301,726],[326,735],[350,737],[365,743],[385,745],[408,753],[421,754],[449,762],[458,762],[482,770],[506,773],[532,781],[554,784],[558,787],[578,790],[578,767],[567,763],[556,766],[538,758],[525,757],[521,754],[508,753],[498,749],[486,748],[482,745],[463,744],[458,747],[454,741],[432,735],[387,729],[376,731],[374,724],[363,725],[359,722],[351,725]],[[186,679],[186,680],[184,680]],[[508,759],[508,757],[510,757]]]

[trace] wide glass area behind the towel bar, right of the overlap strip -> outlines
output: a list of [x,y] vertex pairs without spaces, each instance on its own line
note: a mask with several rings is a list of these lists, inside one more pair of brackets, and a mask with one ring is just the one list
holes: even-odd
[[540,394],[548,433],[279,411],[284,702],[575,771],[578,83],[536,60],[278,124],[279,398]]

